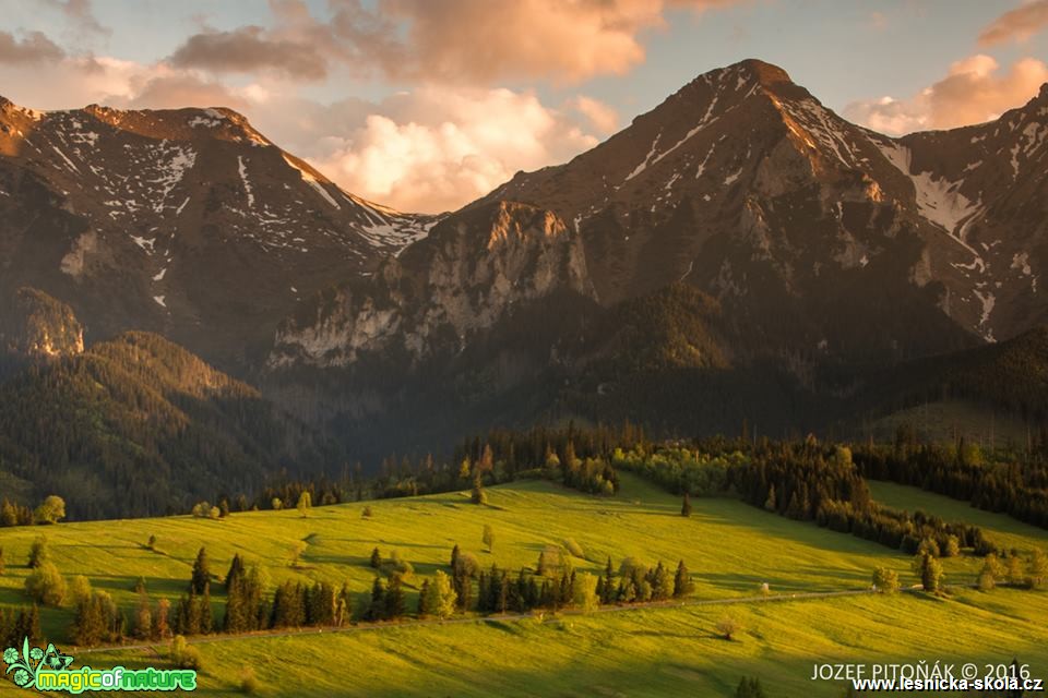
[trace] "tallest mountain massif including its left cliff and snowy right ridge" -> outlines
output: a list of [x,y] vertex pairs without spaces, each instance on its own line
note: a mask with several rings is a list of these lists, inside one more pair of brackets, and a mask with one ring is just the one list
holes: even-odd
[[[751,60],[712,71],[570,163],[517,173],[451,214],[386,263],[389,277],[303,303],[282,326],[271,365],[285,375],[348,369],[353,377],[337,389],[350,396],[354,419],[379,414],[390,424],[419,395],[403,386],[426,375],[445,394],[467,381],[485,386],[456,396],[456,412],[485,405],[497,413],[500,399],[526,400],[522,390],[541,386],[533,401],[558,406],[561,417],[678,429],[695,423],[694,410],[711,431],[755,416],[764,385],[774,399],[760,406],[762,423],[815,428],[884,366],[1048,321],[1036,294],[1048,263],[1037,246],[1044,99],[993,123],[891,139],[839,118],[776,67]],[[1015,137],[1025,145],[1016,149]],[[985,151],[978,167],[980,158],[958,151],[961,139]],[[466,326],[449,320],[463,294],[426,281],[446,264],[442,239],[456,241],[460,265],[497,265],[483,214],[508,202],[558,221],[585,263],[583,285],[562,285],[567,296],[544,306],[560,315],[563,334],[517,336],[528,361],[510,360],[505,346],[510,327],[533,327],[526,309],[536,297],[475,304]],[[989,240],[1015,220],[1026,221],[1021,234]],[[473,237],[453,232],[464,226]],[[414,292],[395,290],[405,260]],[[503,285],[511,298],[527,278],[524,269]],[[496,281],[486,284],[471,287],[474,299],[493,293]],[[995,309],[992,296],[1007,293],[1021,306]],[[386,311],[379,323],[377,308]],[[420,317],[428,337],[445,333],[443,345],[418,341]],[[543,341],[553,345],[544,362]],[[652,341],[672,347],[653,353],[643,346]],[[357,351],[366,346],[376,350]],[[380,372],[400,377],[379,388],[369,374]],[[378,397],[397,390],[400,406]],[[699,410],[710,398],[723,407]],[[408,421],[422,429],[426,419],[437,418]]]

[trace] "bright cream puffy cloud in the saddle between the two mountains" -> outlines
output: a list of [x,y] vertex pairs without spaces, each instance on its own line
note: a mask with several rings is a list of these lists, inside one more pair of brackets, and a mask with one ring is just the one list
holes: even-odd
[[596,143],[532,93],[426,86],[377,105],[348,135],[321,139],[323,153],[309,159],[361,196],[440,212]]

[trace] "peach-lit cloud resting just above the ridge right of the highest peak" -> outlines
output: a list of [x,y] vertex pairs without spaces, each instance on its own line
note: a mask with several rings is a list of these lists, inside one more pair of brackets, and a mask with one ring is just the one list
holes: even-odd
[[854,101],[844,108],[844,116],[891,134],[952,129],[996,119],[1025,104],[1048,82],[1048,64],[1035,58],[1015,61],[1003,73],[1000,68],[990,56],[970,56],[953,63],[945,77],[908,99]]

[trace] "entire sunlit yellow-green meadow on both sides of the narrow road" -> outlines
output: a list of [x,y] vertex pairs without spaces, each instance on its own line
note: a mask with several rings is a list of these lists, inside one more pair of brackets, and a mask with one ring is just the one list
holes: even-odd
[[[41,532],[63,575],[88,577],[128,609],[140,576],[154,599],[183,593],[201,545],[218,575],[234,553],[241,553],[266,566],[273,581],[348,580],[360,592],[374,576],[368,558],[376,545],[383,555],[398,551],[420,583],[448,564],[455,543],[484,566],[495,562],[515,569],[534,566],[544,545],[567,538],[584,551],[584,558],[574,561],[577,569],[598,571],[608,555],[616,564],[627,555],[650,564],[662,559],[676,565],[683,558],[701,599],[752,597],[762,582],[773,593],[786,594],[861,589],[878,566],[900,570],[904,583],[916,581],[907,557],[871,542],[733,500],[694,500],[693,514],[684,519],[676,497],[628,474],[622,484],[614,498],[522,482],[491,488],[488,506],[471,504],[464,493],[371,502],[371,519],[361,516],[365,504],[346,504],[315,508],[307,518],[286,510],[224,520],[171,517],[4,529],[0,545],[8,569],[0,577],[0,603],[26,602],[24,561]],[[1048,543],[1045,531],[963,503],[907,488],[873,488],[878,500],[893,506],[964,518],[1024,547]],[[495,531],[491,554],[480,542],[485,525]],[[151,534],[157,537],[159,553],[145,547]],[[301,568],[295,569],[289,551],[298,541],[307,547]],[[962,577],[974,574],[975,561],[948,562],[950,582],[968,581]],[[414,602],[409,598],[409,607]],[[743,627],[738,641],[715,636],[714,626],[726,613]],[[215,616],[221,615],[216,594]],[[45,633],[64,641],[71,617],[67,609],[45,610]],[[403,624],[238,638],[199,648],[205,662],[203,695],[235,688],[241,669],[251,665],[262,684],[260,694],[267,696],[720,696],[749,674],[761,676],[772,696],[836,696],[842,687],[808,681],[814,661],[1011,661],[1022,655],[1035,675],[1046,674],[1044,617],[1048,594],[961,591],[950,600],[864,595],[564,616],[556,623]],[[85,661],[81,657],[88,655],[79,655],[78,665]],[[96,666],[165,663],[152,650],[106,651],[90,659]],[[5,687],[10,684],[0,683],[0,694]]]

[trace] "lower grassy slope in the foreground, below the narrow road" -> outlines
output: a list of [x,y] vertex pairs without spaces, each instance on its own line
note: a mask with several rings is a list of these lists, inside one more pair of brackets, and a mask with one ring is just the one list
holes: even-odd
[[[987,601],[989,600],[989,606]],[[730,613],[742,630],[715,626]],[[243,639],[201,645],[202,695],[235,690],[254,667],[262,696],[731,696],[760,676],[769,695],[835,697],[814,662],[1028,662],[1048,674],[1048,594],[998,590],[951,600],[907,594],[647,610],[524,621]],[[97,665],[156,662],[148,652]]]

